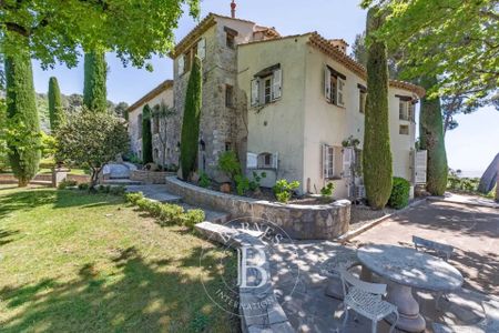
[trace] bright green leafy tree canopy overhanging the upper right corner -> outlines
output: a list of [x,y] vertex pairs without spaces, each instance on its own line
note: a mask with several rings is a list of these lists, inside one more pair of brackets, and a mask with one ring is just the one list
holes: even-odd
[[431,73],[438,77],[432,95],[499,107],[497,0],[363,0],[361,6],[383,7],[386,22],[376,37],[404,51],[403,78]]

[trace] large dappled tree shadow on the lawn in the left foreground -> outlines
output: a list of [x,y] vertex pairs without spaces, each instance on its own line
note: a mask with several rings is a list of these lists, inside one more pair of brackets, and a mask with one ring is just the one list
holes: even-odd
[[[200,254],[201,249],[193,249],[176,261],[149,261],[132,246],[110,261],[114,273],[109,275],[86,263],[70,282],[43,280],[4,287],[0,299],[14,315],[1,323],[2,332],[212,332],[214,312],[221,310],[206,296],[197,275],[184,273],[198,266]],[[221,286],[210,269],[217,263],[204,258],[202,270],[211,290]],[[228,332],[237,332],[234,317],[225,313],[216,317],[218,326],[234,321]]]

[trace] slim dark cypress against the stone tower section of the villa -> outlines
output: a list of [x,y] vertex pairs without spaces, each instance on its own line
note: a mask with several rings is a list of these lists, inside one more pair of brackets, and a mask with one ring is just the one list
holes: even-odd
[[184,180],[187,180],[191,173],[196,170],[202,91],[201,60],[196,57],[191,69],[191,77],[189,78],[182,121],[181,168]]

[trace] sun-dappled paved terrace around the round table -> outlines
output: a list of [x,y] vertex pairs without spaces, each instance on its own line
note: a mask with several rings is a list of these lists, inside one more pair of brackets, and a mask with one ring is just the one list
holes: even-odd
[[[333,242],[297,242],[297,253],[289,244],[282,244],[271,259],[272,276],[277,296],[298,332],[336,332],[343,314],[340,302],[324,294],[327,280],[320,274],[320,264],[343,251],[355,251],[365,243],[387,243],[411,246],[416,234],[456,248],[450,264],[465,278],[464,289],[442,302],[441,312],[435,309],[435,295],[416,291],[421,315],[431,332],[431,322],[469,324],[479,322],[483,314],[480,302],[499,294],[499,211],[450,202],[430,202],[409,209],[366,233],[355,238],[347,246]],[[288,263],[299,266],[298,283],[288,270]],[[496,296],[493,296],[496,295]],[[353,319],[353,316],[350,316]],[[388,332],[380,322],[378,332]],[[370,322],[361,316],[349,321],[345,332],[369,332]]]

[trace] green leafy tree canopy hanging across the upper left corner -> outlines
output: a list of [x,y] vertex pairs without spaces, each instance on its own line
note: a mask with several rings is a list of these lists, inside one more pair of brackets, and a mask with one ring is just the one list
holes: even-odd
[[183,4],[198,16],[198,0],[0,1],[2,53],[29,48],[47,68],[59,62],[74,67],[81,49],[100,50],[142,67],[151,54],[173,48]]

